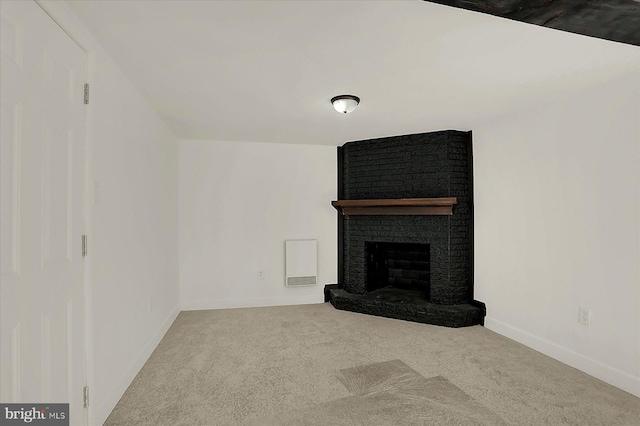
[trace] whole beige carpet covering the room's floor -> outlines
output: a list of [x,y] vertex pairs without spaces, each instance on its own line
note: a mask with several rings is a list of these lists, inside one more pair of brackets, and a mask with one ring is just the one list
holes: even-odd
[[329,304],[183,312],[107,425],[638,425],[640,399],[484,327]]

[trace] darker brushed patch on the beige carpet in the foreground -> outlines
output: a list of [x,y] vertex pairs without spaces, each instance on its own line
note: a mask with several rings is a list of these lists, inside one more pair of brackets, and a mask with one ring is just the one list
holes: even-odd
[[400,360],[347,368],[338,378],[355,396],[254,419],[243,426],[505,425],[444,377],[425,379]]

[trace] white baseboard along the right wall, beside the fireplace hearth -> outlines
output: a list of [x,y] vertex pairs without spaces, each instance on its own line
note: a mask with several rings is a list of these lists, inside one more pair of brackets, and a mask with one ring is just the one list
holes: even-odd
[[640,398],[639,377],[634,377],[624,371],[620,371],[616,368],[603,364],[600,361],[581,355],[556,343],[550,342],[524,330],[512,327],[496,319],[486,317],[484,325],[491,331],[495,331],[498,334],[522,343],[523,345],[535,349],[538,352],[570,365],[573,368],[577,368],[590,376],[600,379],[603,382],[609,383],[610,385]]

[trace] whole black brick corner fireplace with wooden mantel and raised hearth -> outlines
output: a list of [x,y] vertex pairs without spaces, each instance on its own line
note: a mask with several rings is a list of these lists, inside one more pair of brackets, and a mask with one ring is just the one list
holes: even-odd
[[[338,309],[449,327],[482,324],[473,300],[471,132],[338,148]],[[428,197],[428,198],[425,198]]]

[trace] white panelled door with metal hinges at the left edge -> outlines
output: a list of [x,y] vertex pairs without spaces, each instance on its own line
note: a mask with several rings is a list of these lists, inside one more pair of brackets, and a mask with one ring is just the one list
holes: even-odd
[[86,424],[85,52],[33,1],[0,1],[0,400]]

